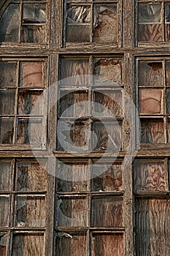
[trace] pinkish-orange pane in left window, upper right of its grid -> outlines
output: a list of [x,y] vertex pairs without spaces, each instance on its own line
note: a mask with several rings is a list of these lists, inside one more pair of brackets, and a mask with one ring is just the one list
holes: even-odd
[[20,86],[44,87],[44,64],[33,62],[22,63]]

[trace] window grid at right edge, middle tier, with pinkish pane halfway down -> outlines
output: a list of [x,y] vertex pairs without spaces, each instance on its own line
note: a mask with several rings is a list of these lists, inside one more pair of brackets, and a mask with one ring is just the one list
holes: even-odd
[[141,143],[170,143],[169,75],[169,59],[138,60]]

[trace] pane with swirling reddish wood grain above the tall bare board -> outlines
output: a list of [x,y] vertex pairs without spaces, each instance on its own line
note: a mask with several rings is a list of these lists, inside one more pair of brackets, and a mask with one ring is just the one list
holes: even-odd
[[163,162],[136,161],[134,165],[135,190],[167,190]]

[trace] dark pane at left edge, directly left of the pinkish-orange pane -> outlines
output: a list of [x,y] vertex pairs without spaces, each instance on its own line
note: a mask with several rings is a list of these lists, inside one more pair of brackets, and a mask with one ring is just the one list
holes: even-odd
[[17,62],[0,62],[0,87],[16,86]]

